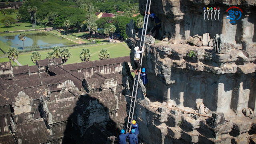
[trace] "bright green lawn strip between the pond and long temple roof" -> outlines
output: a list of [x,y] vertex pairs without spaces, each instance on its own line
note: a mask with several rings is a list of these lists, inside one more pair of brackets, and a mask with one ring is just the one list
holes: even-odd
[[[129,54],[130,54],[130,49],[127,48],[127,46],[124,42],[118,43],[118,44],[90,46],[90,47],[85,47],[85,48],[89,48],[90,52],[92,53],[92,58],[90,61],[99,60],[98,54],[99,54],[100,49],[102,49],[102,48],[106,48],[108,50],[108,52],[110,53],[110,58],[129,56]],[[66,64],[82,62],[82,60],[80,60],[80,57],[79,57],[81,50],[82,50],[82,48],[70,49],[72,56],[68,59]],[[42,59],[46,58],[47,53],[48,52],[40,52]],[[28,66],[33,66],[35,64],[30,59],[31,55],[32,55],[31,53],[30,54],[20,54],[19,58],[17,60],[22,65],[28,64]],[[0,58],[0,62],[8,62],[8,61],[9,61],[8,58]]]

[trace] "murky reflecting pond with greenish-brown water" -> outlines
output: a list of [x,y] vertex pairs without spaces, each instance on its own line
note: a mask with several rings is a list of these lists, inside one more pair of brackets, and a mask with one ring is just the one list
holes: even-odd
[[[76,44],[66,38],[57,36],[50,32],[40,32],[34,34],[26,34],[26,40],[24,41],[25,50],[34,49],[34,48],[48,48],[52,46],[66,46],[71,44]],[[19,40],[18,35],[14,36],[0,36],[0,40],[7,43],[13,48],[22,50],[23,44]]]

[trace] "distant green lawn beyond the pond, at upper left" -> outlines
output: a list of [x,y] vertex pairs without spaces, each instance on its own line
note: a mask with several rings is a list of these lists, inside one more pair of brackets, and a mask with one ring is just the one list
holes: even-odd
[[[6,14],[6,16],[10,16],[14,19],[16,19],[16,16],[17,16],[17,13],[18,10],[15,10],[15,13],[14,14]],[[4,14],[0,13],[0,20],[2,20],[4,18]],[[22,20],[21,20],[22,21]],[[17,21],[18,22],[18,21]],[[38,24],[36,25],[36,28],[44,28],[39,26]],[[18,23],[15,23],[15,24],[11,24],[9,27],[8,27],[8,31],[16,31],[16,30],[29,30],[29,29],[32,29],[32,24],[29,23],[29,22],[20,22],[20,26],[18,26]],[[0,25],[0,32],[5,32],[7,31],[7,27],[2,23]]]

